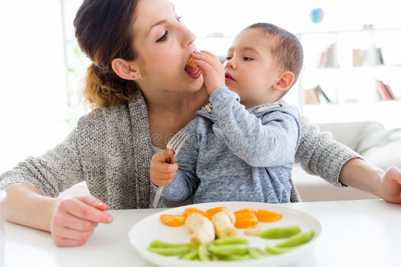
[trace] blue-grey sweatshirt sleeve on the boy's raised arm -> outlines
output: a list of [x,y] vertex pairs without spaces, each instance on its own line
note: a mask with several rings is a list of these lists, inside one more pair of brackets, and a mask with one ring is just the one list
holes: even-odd
[[213,113],[227,145],[238,157],[255,167],[279,166],[294,162],[299,139],[297,120],[274,111],[257,118],[239,102],[237,93],[220,87],[210,95]]

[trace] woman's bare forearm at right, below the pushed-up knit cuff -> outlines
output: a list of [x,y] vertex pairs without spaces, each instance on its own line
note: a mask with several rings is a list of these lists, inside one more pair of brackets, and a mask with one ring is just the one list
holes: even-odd
[[339,181],[359,190],[379,195],[380,180],[384,170],[375,167],[360,158],[352,158],[342,166]]

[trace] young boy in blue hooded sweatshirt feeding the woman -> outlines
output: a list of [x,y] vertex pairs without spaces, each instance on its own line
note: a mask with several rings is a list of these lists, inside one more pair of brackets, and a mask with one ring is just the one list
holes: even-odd
[[300,127],[297,109],[278,100],[302,67],[297,37],[257,23],[236,36],[225,66],[208,51],[194,52],[192,58],[210,103],[185,126],[189,138],[177,156],[176,172],[152,157],[155,189],[167,184],[162,198],[169,202],[192,196],[194,203],[289,202]]

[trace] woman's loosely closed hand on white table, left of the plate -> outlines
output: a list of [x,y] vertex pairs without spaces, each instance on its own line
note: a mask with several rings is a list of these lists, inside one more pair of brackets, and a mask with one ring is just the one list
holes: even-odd
[[110,223],[107,204],[93,195],[67,197],[59,202],[51,219],[51,233],[58,246],[79,246],[88,240],[99,222]]

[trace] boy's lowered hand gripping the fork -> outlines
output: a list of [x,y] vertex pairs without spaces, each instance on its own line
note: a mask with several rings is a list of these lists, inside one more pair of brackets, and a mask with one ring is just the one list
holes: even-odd
[[172,155],[173,150],[165,149],[152,156],[149,175],[154,185],[167,185],[174,178],[175,171],[178,169],[178,164],[166,162],[166,158]]

